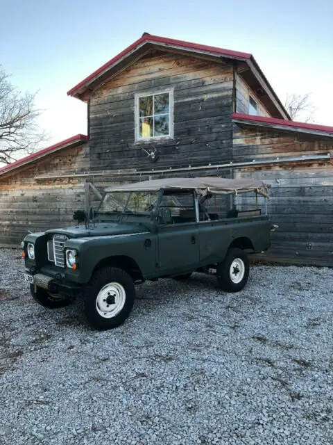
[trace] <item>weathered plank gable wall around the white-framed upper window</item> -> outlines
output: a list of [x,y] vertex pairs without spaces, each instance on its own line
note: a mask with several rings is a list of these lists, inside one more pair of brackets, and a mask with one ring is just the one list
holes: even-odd
[[[230,160],[232,65],[154,52],[96,90],[89,102],[92,170],[187,166]],[[174,138],[135,143],[135,93],[173,87]]]

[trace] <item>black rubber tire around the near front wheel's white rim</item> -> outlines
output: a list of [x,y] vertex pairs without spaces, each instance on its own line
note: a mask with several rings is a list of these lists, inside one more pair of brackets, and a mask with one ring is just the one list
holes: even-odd
[[[97,303],[101,301],[101,292],[103,292],[103,289],[106,289],[108,285],[119,286],[119,289],[124,291],[124,295],[122,294],[124,303],[123,307],[121,307],[121,310],[117,314],[105,318],[99,313],[102,311]],[[98,269],[83,290],[83,300],[85,317],[91,327],[94,327],[94,329],[97,330],[108,330],[117,327],[128,318],[134,305],[135,286],[133,278],[125,272],[125,270],[119,268],[103,267]],[[107,303],[105,302],[105,305],[106,304]]]

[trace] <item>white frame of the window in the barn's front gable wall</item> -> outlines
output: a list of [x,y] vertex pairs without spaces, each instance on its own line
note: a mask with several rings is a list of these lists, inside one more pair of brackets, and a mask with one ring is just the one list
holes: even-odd
[[[162,95],[165,93],[169,93],[169,134],[164,136],[151,136],[149,138],[140,138],[139,137],[139,98],[140,97],[146,97],[146,96],[156,96],[156,95]],[[163,140],[163,139],[173,139],[173,88],[167,88],[163,90],[154,89],[154,90],[148,90],[144,92],[139,92],[135,94],[134,97],[134,118],[135,118],[135,142],[136,143],[142,143],[142,142],[151,142],[153,140]],[[162,113],[167,114],[167,113]],[[155,116],[154,114],[152,116]],[[158,116],[158,115],[156,115]]]

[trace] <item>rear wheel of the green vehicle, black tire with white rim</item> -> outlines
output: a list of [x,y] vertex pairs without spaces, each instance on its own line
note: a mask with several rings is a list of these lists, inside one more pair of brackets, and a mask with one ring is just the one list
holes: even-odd
[[217,282],[223,291],[238,292],[248,282],[250,261],[244,250],[231,248],[225,259],[217,266]]

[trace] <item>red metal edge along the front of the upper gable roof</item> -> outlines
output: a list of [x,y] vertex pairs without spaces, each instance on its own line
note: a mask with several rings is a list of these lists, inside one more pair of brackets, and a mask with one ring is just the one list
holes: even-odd
[[223,49],[219,47],[210,47],[205,44],[199,44],[199,43],[192,43],[192,42],[185,42],[185,40],[176,40],[166,37],[160,37],[160,35],[151,35],[151,34],[144,34],[141,38],[135,40],[133,44],[130,44],[129,47],[121,51],[117,56],[114,56],[111,60],[109,60],[107,63],[102,65],[98,70],[94,71],[92,74],[87,76],[83,81],[80,81],[76,86],[71,88],[71,90],[67,91],[68,96],[74,96],[75,93],[86,83],[89,83],[89,81],[92,81],[96,76],[101,74],[104,70],[107,70],[108,67],[111,67],[114,63],[116,63],[119,59],[121,59],[123,56],[126,56],[126,54],[130,53],[135,47],[137,47],[139,44],[142,44],[144,42],[156,42],[156,43],[163,43],[163,44],[170,44],[170,45],[176,45],[188,49],[194,49],[196,51],[210,51],[214,52],[216,54],[221,54],[221,56],[226,57],[237,57],[237,58],[244,58],[244,59],[250,59],[251,54],[244,53],[241,51],[232,51],[230,49]]

